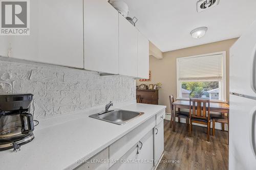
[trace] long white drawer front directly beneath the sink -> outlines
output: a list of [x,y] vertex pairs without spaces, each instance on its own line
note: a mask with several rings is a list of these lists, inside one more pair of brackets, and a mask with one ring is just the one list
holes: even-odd
[[[142,125],[127,133],[122,138],[115,141],[110,145],[110,160],[120,159],[126,152],[128,152],[140,139],[142,136],[147,134],[156,126],[155,116],[148,119]],[[109,166],[111,167],[114,162],[110,161]]]

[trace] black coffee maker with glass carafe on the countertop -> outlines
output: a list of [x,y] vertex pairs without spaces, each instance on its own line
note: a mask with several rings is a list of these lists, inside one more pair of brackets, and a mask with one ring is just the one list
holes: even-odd
[[29,113],[33,94],[0,94],[0,151],[34,139],[33,116]]

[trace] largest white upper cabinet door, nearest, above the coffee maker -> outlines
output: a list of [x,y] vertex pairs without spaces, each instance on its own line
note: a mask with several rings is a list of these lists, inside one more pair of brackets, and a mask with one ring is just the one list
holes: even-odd
[[5,38],[4,50],[11,48],[13,58],[83,68],[82,4],[83,0],[30,1],[30,35]]

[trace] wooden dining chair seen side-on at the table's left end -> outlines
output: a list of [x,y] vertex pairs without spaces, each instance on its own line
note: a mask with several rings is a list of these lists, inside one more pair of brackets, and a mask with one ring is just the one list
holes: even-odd
[[180,122],[180,118],[185,118],[186,119],[186,127],[187,127],[187,130],[188,130],[189,112],[180,111],[180,109],[178,109],[178,111],[174,110],[174,106],[173,106],[173,103],[175,102],[174,95],[169,96],[169,102],[170,102],[170,113],[171,113],[170,128],[172,128],[172,126],[174,125],[174,121],[175,121],[174,113],[175,113],[175,117],[179,118],[179,122]]

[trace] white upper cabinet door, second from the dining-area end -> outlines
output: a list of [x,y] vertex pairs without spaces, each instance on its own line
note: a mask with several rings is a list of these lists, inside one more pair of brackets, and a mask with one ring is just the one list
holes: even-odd
[[138,76],[138,30],[120,14],[119,74]]

